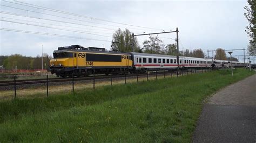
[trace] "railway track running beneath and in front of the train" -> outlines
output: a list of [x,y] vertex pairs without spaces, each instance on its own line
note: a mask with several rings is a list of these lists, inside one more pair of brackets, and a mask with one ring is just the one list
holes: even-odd
[[[187,71],[182,71],[187,72]],[[161,75],[161,74],[177,74],[177,71],[158,71],[158,72],[151,72],[149,76],[153,75]],[[69,78],[38,78],[38,79],[31,79],[31,80],[12,80],[12,81],[0,81],[0,87],[10,86],[10,85],[23,85],[23,84],[38,84],[38,83],[51,83],[51,82],[69,82],[69,81],[85,81],[85,80],[98,80],[104,78],[121,78],[121,77],[134,77],[134,76],[147,76],[147,73],[135,73],[135,74],[123,74],[123,75],[97,75],[97,76],[87,76],[87,77],[69,77]]]

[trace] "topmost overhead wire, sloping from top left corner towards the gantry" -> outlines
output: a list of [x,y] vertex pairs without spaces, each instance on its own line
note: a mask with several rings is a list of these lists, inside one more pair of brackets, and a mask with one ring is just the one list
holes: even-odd
[[[3,1],[3,2],[9,2],[9,1]],[[78,15],[78,14],[71,13],[71,12],[55,10],[55,9],[51,9],[51,8],[46,8],[44,6],[39,6],[39,5],[35,5],[35,4],[29,4],[29,3],[20,2],[20,1],[15,1],[15,2],[9,2],[9,3],[19,4],[19,5],[23,5],[23,6],[29,6],[31,8],[43,9],[43,10],[48,10],[48,11],[52,11],[52,12],[64,13],[66,15],[72,15],[72,16],[77,16],[77,17],[83,17],[83,18],[89,18],[89,19],[94,19],[94,20],[100,20],[100,21],[103,21],[103,22],[115,23],[115,24],[120,24],[120,25],[140,27],[140,28],[147,28],[147,29],[151,29],[151,30],[163,30],[163,29],[160,29],[160,28],[151,28],[151,27],[145,27],[145,26],[136,26],[136,25],[131,25],[131,24],[125,24],[125,23],[120,23],[120,22],[112,22],[110,20],[105,20],[105,19],[100,19],[100,18],[95,18],[95,17],[89,17],[89,16],[84,16],[84,15]]]

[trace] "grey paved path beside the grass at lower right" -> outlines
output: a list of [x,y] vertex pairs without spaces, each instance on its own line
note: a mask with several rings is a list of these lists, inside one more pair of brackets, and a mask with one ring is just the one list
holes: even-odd
[[193,142],[256,142],[256,74],[209,99]]

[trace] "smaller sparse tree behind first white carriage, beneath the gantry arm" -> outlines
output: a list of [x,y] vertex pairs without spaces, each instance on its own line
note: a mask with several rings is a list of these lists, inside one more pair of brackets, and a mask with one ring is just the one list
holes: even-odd
[[160,54],[163,41],[156,38],[150,37],[149,40],[143,41],[144,53]]

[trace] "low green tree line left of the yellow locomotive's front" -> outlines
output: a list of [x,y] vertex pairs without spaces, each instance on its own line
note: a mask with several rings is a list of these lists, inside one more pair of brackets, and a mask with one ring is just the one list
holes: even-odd
[[[51,56],[43,54],[43,68],[47,69],[50,64]],[[0,66],[4,69],[12,70],[15,69],[41,69],[42,68],[42,56],[37,55],[36,57],[23,56],[20,54],[14,54],[9,56],[0,56]]]

